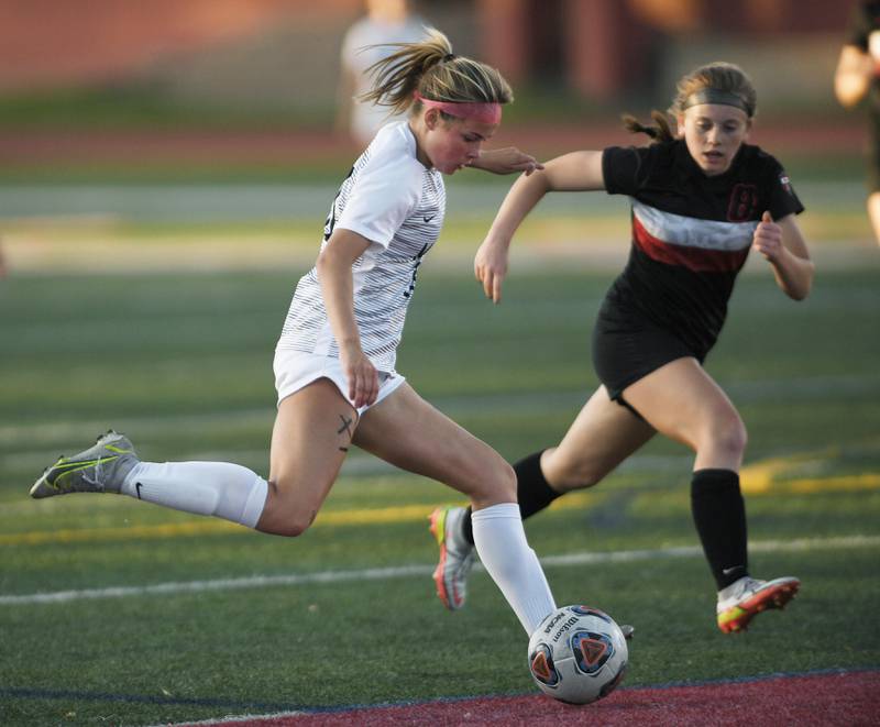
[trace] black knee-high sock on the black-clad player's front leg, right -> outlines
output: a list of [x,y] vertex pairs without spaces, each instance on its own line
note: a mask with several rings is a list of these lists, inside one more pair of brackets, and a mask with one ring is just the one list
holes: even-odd
[[691,511],[718,591],[748,575],[746,505],[733,470],[697,470]]

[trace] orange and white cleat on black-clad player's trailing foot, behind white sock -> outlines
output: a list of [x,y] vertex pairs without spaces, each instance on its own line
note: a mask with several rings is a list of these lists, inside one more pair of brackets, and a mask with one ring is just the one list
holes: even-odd
[[433,572],[437,597],[449,608],[458,610],[468,597],[468,576],[474,564],[474,547],[462,533],[463,507],[438,507],[431,513],[431,532],[440,546],[440,562]]

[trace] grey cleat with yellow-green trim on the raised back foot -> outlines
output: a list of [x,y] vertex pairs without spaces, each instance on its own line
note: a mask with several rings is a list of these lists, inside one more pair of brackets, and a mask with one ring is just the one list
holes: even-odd
[[124,434],[112,429],[74,456],[59,456],[31,487],[41,499],[68,493],[119,493],[129,472],[140,460]]

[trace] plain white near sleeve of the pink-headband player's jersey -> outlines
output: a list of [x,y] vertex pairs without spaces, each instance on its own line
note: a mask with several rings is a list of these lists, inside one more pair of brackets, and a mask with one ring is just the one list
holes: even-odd
[[356,178],[336,227],[387,247],[419,203],[421,165],[407,156],[376,155]]

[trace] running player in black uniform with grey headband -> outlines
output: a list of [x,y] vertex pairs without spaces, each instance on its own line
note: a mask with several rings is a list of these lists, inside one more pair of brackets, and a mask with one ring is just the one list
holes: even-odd
[[[718,591],[724,632],[745,629],[767,608],[798,592],[794,577],[752,579],[739,467],[746,428],[730,399],[703,368],[727,313],[737,273],[750,250],[762,255],[777,284],[801,300],[813,263],[795,222],[803,210],[772,156],[746,143],[756,92],[737,66],[714,63],[679,81],[668,118],[654,125],[625,117],[652,143],[565,154],[541,173],[520,177],[508,192],[474,269],[497,302],[508,250],[519,224],[548,191],[605,189],[632,203],[632,245],[608,290],[593,333],[602,385],[559,445],[515,465],[522,517],[572,489],[591,487],[657,432],[695,453],[691,503]],[[447,607],[464,603],[472,561],[470,515],[446,508],[433,516],[441,550],[435,574]],[[442,587],[441,587],[442,586]]]

